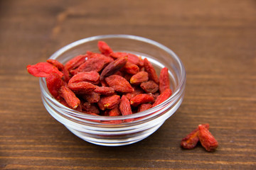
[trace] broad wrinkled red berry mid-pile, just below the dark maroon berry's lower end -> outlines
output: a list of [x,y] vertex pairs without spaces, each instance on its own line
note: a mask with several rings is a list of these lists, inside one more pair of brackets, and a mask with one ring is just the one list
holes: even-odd
[[111,75],[110,77],[106,77],[105,81],[115,91],[122,93],[131,93],[132,91],[134,91],[131,84],[129,84],[129,82],[124,79],[124,77],[120,77],[118,75]]

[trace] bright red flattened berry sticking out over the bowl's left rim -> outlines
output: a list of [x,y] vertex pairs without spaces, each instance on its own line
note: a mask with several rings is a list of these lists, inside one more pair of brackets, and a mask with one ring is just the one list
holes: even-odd
[[60,77],[63,77],[63,73],[58,70],[53,64],[48,62],[38,62],[34,65],[28,65],[28,73],[32,74],[34,77],[48,77],[51,73],[56,73]]

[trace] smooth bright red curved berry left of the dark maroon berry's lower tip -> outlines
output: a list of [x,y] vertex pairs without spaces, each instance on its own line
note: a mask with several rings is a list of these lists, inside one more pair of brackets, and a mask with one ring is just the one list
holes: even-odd
[[87,81],[91,84],[99,84],[100,83],[100,74],[98,72],[92,71],[92,72],[79,72],[78,74],[75,74],[70,81],[68,81],[68,84],[78,83],[80,81]]

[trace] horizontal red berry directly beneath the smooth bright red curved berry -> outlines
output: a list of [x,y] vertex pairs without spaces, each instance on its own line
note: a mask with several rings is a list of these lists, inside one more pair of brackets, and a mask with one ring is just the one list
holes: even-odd
[[88,94],[94,91],[96,86],[87,81],[81,81],[78,83],[68,84],[68,88],[74,91],[75,94]]

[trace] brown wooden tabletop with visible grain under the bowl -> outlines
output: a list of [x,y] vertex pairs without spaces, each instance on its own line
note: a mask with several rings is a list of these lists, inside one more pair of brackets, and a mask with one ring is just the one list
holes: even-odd
[[[80,140],[46,111],[27,64],[75,40],[130,34],[186,67],[181,107],[124,147]],[[256,1],[0,1],[0,169],[256,169]],[[209,123],[215,152],[179,147]]]

